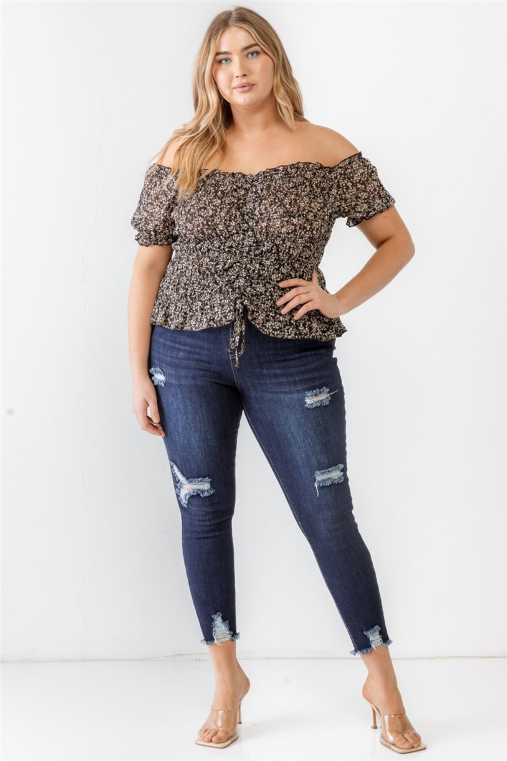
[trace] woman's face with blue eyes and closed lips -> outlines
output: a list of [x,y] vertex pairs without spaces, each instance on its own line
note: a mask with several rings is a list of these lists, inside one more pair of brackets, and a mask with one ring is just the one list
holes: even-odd
[[[272,97],[273,59],[246,29],[232,27],[223,31],[218,40],[213,78],[231,108],[257,106]],[[238,89],[238,84],[246,82],[249,87]]]

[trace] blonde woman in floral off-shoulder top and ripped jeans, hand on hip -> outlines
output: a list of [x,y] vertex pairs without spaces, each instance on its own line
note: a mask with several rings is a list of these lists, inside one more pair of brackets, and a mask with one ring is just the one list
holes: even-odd
[[[250,682],[236,658],[231,521],[239,420],[249,425],[312,547],[368,677],[363,696],[398,753],[423,750],[388,653],[375,570],[347,476],[341,315],[414,255],[395,199],[344,136],[303,116],[274,29],[236,7],[211,21],[195,62],[195,116],[147,170],[132,226],[133,410],[162,436],[185,569],[215,692],[196,743],[237,739]],[[334,221],[375,254],[336,294],[318,263]],[[173,256],[173,247],[175,256]],[[151,416],[147,415],[149,406]]]

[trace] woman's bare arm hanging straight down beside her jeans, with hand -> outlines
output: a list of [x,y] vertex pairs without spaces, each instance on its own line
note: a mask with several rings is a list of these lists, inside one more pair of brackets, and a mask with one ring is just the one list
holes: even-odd
[[[160,281],[173,256],[172,246],[140,246],[128,290],[128,356],[132,372],[132,412],[147,433],[164,436],[157,393],[148,374],[151,313]],[[147,414],[150,407],[151,416]]]

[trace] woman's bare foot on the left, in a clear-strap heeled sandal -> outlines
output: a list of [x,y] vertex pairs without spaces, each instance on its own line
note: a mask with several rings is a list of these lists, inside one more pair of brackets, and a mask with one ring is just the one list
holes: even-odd
[[[198,731],[200,740],[207,743],[225,743],[233,734],[236,734],[238,726],[236,708],[249,689],[250,680],[239,664],[238,671],[233,677],[217,680],[211,708],[216,708],[218,711],[226,708],[228,712],[216,714],[210,711],[208,718]],[[217,716],[220,716],[220,729],[217,729]]]

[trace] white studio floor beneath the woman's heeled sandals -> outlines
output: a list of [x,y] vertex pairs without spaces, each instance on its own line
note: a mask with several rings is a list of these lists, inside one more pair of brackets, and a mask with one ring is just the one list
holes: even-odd
[[[507,662],[393,659],[429,759],[505,759]],[[2,761],[395,759],[379,743],[356,659],[242,658],[252,686],[239,740],[195,745],[213,697],[211,662],[2,664]]]

